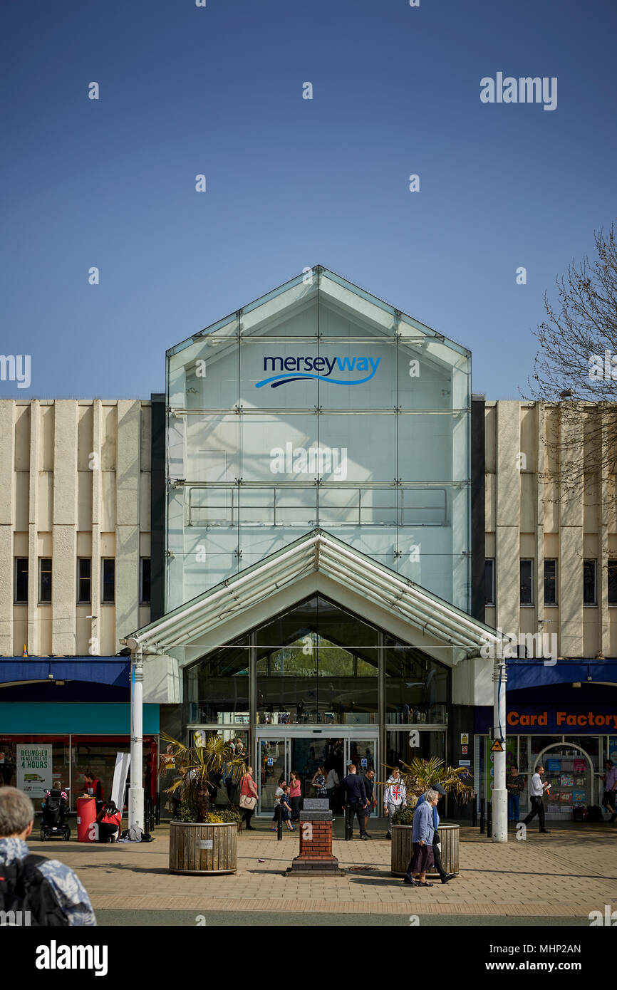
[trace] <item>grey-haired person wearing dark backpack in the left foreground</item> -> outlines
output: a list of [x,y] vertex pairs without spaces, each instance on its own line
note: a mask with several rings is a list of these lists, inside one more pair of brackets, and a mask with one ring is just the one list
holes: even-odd
[[32,927],[96,925],[76,873],[57,859],[30,853],[26,840],[34,822],[28,795],[17,787],[0,788],[0,911],[29,911]]

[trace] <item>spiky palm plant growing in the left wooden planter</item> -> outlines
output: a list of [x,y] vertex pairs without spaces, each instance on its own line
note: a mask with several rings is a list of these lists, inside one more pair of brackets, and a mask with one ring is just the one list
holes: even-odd
[[160,735],[168,745],[167,752],[161,754],[158,761],[158,773],[168,769],[172,756],[179,774],[167,792],[179,792],[182,805],[191,810],[190,818],[194,816],[195,822],[203,823],[210,807],[208,784],[211,784],[212,776],[225,770],[227,776],[237,781],[247,772],[247,764],[242,757],[236,756],[233,745],[220,736],[208,736],[203,745],[184,745],[166,733]]

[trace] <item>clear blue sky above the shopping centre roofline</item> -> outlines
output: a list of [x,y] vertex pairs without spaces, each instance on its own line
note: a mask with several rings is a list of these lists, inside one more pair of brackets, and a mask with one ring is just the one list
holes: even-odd
[[[322,263],[517,398],[617,216],[616,29],[614,0],[5,0],[0,350],[32,386],[0,397],[148,398],[166,347]],[[557,110],[480,103],[497,71]]]

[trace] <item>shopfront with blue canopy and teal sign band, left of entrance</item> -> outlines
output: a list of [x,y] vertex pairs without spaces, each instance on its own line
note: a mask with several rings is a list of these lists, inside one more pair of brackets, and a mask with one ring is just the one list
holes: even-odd
[[[144,784],[155,797],[159,706],[144,705]],[[119,752],[131,747],[131,661],[126,656],[0,659],[0,783],[29,793],[39,810],[51,787],[70,788],[75,809],[83,773],[103,793]]]

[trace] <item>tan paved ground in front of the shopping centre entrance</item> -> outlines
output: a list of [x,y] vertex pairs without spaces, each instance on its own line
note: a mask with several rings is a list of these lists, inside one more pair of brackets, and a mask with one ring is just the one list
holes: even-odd
[[[306,925],[306,916],[323,919],[315,924],[360,924],[362,915],[391,925],[413,924],[410,916],[420,916],[422,924],[436,925],[562,920],[588,926],[590,911],[617,907],[617,828],[608,823],[552,823],[549,836],[530,829],[526,841],[517,841],[512,831],[507,843],[463,825],[460,874],[423,890],[391,875],[391,843],[380,821],[371,821],[370,841],[343,841],[342,823],[336,824],[333,852],[345,870],[337,877],[286,877],[298,853],[298,831],[276,841],[269,826],[257,822],[257,831],[239,835],[238,871],[221,876],[169,873],[168,825],[154,829],[154,841],[144,844],[29,845],[76,870],[103,925],[232,925],[263,913],[255,924],[271,924],[270,916],[286,918],[281,924],[287,925]],[[342,920],[348,916],[349,922]]]

